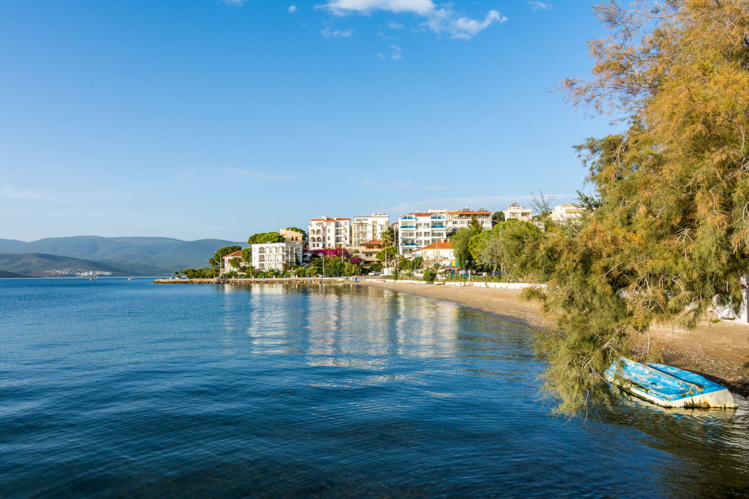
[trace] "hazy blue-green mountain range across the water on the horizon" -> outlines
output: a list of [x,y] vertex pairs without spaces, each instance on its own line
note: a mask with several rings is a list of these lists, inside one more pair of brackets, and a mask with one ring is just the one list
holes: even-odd
[[[246,242],[166,237],[52,237],[24,242],[0,239],[0,270],[42,277],[50,269],[82,269],[112,275],[162,275],[206,267],[213,252]],[[58,257],[64,257],[60,259]],[[2,277],[0,275],[0,277]]]

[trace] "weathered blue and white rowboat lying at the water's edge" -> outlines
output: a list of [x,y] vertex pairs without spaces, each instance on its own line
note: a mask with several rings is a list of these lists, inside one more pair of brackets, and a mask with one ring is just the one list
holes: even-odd
[[664,364],[640,364],[619,358],[605,373],[608,382],[664,407],[736,408],[727,388]]

